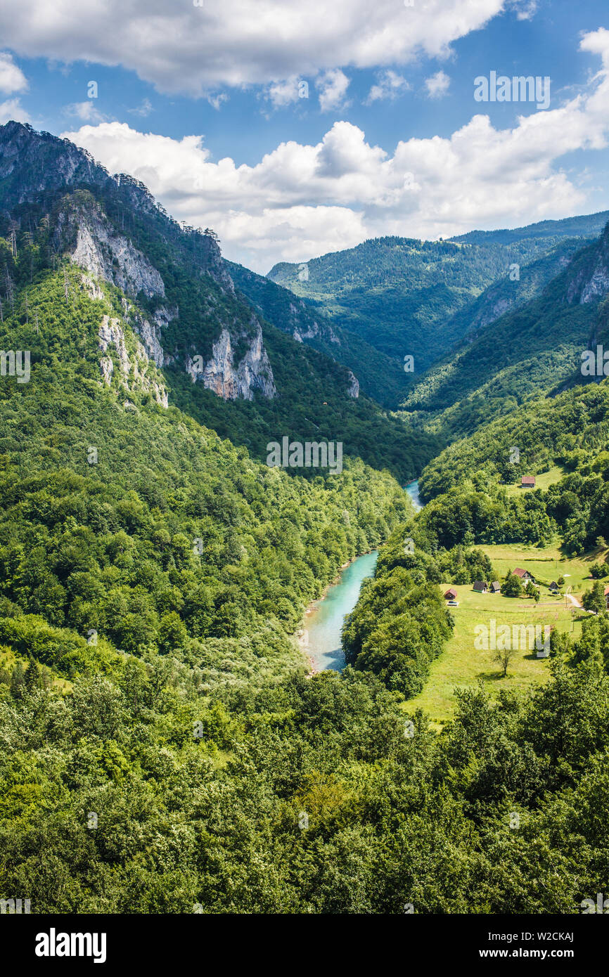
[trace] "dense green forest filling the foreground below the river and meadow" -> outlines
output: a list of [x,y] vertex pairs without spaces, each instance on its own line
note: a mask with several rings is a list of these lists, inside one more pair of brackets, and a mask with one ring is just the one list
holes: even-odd
[[590,619],[549,684],[463,691],[442,736],[351,668],[216,696],[173,658],[68,696],[26,672],[0,683],[2,889],[36,913],[581,913],[609,870],[608,660]]

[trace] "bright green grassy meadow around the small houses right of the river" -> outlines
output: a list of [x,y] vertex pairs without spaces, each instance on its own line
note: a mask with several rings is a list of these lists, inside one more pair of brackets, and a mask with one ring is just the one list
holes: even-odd
[[[549,473],[548,473],[549,474]],[[548,661],[537,658],[535,651],[518,651],[512,658],[507,675],[500,677],[500,665],[494,661],[492,651],[474,648],[477,624],[490,626],[491,618],[500,624],[549,624],[560,631],[569,631],[577,639],[582,630],[584,611],[578,610],[564,596],[554,597],[547,590],[551,580],[565,577],[565,588],[572,588],[576,598],[590,584],[589,565],[603,559],[607,550],[595,550],[576,559],[565,559],[557,547],[537,549],[527,546],[482,546],[491,558],[496,579],[508,570],[522,567],[542,584],[541,600],[535,604],[531,598],[503,597],[501,594],[479,594],[472,584],[459,585],[447,581],[440,585],[444,594],[448,587],[457,590],[459,606],[451,608],[455,617],[455,631],[444,653],[432,662],[425,688],[415,699],[405,704],[409,712],[422,708],[433,720],[442,725],[455,714],[454,690],[475,685],[482,679],[492,691],[499,689],[526,689],[533,683],[544,682],[548,677]]]

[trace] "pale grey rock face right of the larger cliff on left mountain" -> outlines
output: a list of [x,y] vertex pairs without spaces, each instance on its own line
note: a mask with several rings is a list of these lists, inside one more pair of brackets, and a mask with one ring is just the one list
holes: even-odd
[[237,366],[234,360],[231,334],[224,328],[213,344],[211,358],[204,362],[200,356],[194,359],[189,356],[186,368],[194,383],[201,382],[207,390],[212,390],[225,401],[236,401],[238,398],[252,401],[256,390],[269,399],[277,395],[260,325]]

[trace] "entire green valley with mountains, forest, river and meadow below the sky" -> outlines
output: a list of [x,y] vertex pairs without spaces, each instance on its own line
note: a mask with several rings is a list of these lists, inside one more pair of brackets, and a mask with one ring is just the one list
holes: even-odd
[[[578,372],[609,215],[265,277],[15,121],[0,197],[2,892],[577,912],[609,866],[609,387]],[[476,646],[505,624],[544,657]]]

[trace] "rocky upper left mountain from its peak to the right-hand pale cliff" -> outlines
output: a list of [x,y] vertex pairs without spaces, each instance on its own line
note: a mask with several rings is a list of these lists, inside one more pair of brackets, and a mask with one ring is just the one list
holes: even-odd
[[[236,294],[213,234],[180,229],[138,181],[110,176],[82,149],[16,122],[0,127],[0,181],[18,231],[24,205],[42,203],[51,251],[83,270],[89,295],[103,296],[101,282],[122,293],[124,322],[106,317],[100,325],[103,352],[114,350],[121,375],[127,367],[118,330],[124,338],[131,327],[140,339],[131,374],[142,373],[143,358],[192,373],[189,363],[203,350],[203,385],[219,397],[276,396],[261,322]],[[106,357],[105,382],[112,369]],[[166,403],[166,389],[156,387],[154,396]]]

